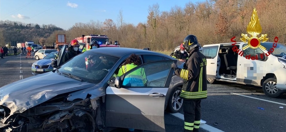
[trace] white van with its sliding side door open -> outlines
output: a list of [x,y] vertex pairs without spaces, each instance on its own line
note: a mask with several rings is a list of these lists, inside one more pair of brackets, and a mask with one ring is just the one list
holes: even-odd
[[204,45],[207,58],[207,80],[262,86],[268,97],[286,92],[286,45],[264,42],[264,48],[252,49],[247,43]]

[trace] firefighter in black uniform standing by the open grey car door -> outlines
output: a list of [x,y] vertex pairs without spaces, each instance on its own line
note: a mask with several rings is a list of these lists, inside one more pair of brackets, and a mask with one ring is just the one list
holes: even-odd
[[175,63],[171,67],[175,74],[184,79],[180,97],[183,100],[184,132],[198,132],[200,127],[200,103],[207,98],[207,60],[200,53],[197,37],[188,35],[184,39],[184,47],[189,53],[184,68],[180,69]]

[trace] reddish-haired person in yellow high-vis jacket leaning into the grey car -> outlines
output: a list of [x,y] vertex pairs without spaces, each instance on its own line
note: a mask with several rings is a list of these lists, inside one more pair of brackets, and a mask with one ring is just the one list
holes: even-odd
[[[142,64],[141,58],[136,54],[131,54],[129,58],[127,58],[127,60],[125,61],[124,65],[122,65],[121,68],[119,69],[117,76],[121,76],[122,74],[125,74],[129,70],[141,64]],[[122,85],[140,87],[140,86],[145,86],[146,82],[147,79],[145,75],[145,69],[139,68],[129,73],[127,76],[125,76]]]

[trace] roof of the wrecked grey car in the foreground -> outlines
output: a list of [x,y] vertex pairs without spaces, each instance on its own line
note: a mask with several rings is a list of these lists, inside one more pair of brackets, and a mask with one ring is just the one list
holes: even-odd
[[108,53],[108,54],[111,54],[113,56],[118,56],[118,57],[123,57],[127,54],[135,53],[137,55],[148,54],[148,55],[157,55],[157,56],[164,56],[167,58],[172,58],[168,55],[165,55],[159,52],[154,52],[154,51],[144,50],[144,49],[123,48],[123,47],[100,47],[97,49],[90,49],[88,51],[94,51],[94,52],[103,53],[103,54]]

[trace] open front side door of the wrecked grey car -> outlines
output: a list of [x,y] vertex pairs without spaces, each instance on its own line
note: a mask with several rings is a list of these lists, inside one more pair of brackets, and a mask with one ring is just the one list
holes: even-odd
[[[117,77],[106,88],[106,126],[164,132],[165,97],[174,73],[173,62],[177,60],[145,63]],[[138,71],[145,74],[143,81],[129,81]]]

